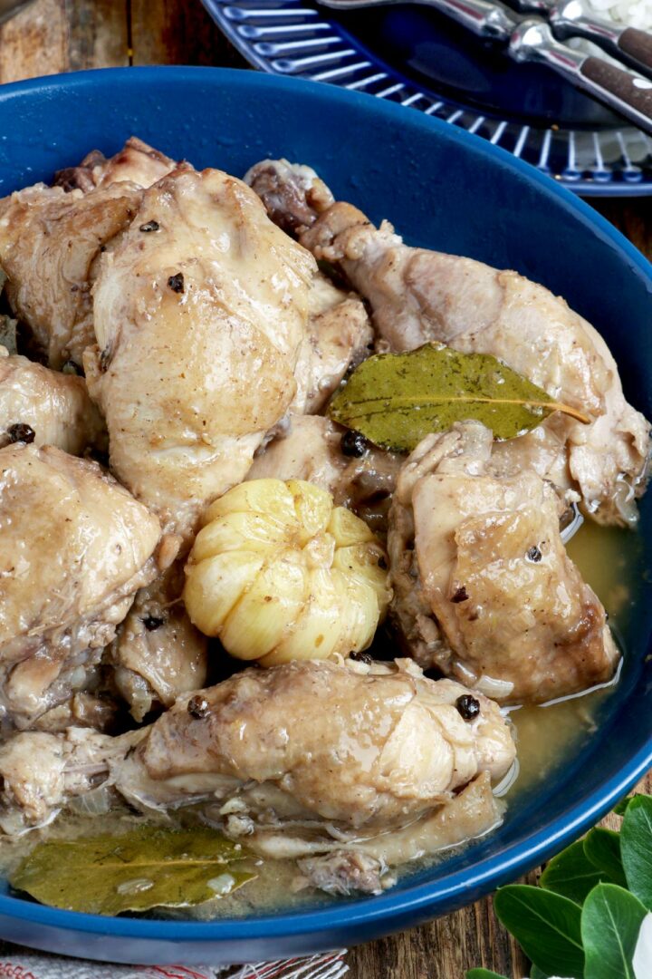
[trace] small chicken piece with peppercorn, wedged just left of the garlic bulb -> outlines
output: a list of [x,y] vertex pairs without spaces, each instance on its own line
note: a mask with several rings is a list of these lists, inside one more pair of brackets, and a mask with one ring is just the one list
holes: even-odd
[[188,618],[183,586],[177,562],[141,588],[105,654],[136,721],[206,682],[207,640]]

